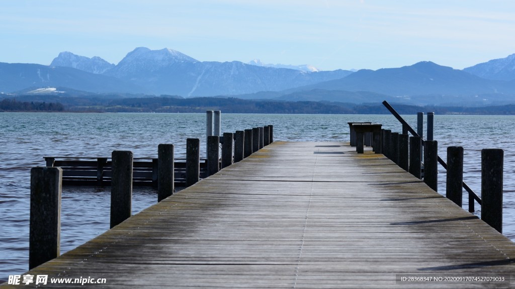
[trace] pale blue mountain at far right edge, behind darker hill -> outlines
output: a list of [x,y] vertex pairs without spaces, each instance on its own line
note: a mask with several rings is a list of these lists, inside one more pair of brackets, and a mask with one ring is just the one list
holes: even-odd
[[506,58],[493,59],[463,69],[470,74],[495,80],[515,79],[515,54]]

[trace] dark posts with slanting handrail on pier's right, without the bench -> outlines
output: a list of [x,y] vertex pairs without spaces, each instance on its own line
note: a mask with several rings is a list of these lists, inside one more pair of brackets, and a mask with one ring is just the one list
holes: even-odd
[[[437,191],[437,162],[447,171],[446,180],[446,196],[462,206],[462,190],[464,188],[469,196],[469,212],[474,212],[474,201],[481,206],[481,219],[492,226],[494,229],[502,233],[502,210],[503,210],[503,156],[502,149],[483,149],[482,155],[482,178],[481,178],[481,194],[480,198],[465,182],[463,182],[463,148],[462,147],[449,147],[447,149],[447,164],[437,151],[437,141],[433,138],[433,118],[434,113],[428,114],[428,137],[431,140],[423,140],[422,135],[416,132],[410,125],[397,113],[396,110],[385,100],[383,105],[390,111],[390,113],[399,120],[402,124],[403,132],[411,133],[409,137],[409,166],[408,171],[416,177],[422,179],[421,164],[424,164],[424,182]],[[418,131],[422,132],[421,115],[418,114]],[[400,164],[401,154],[392,153],[395,151],[404,151],[406,146],[406,135],[400,134],[402,139],[399,138],[394,141],[396,137],[393,136],[389,130],[382,129],[382,152],[385,156],[392,159],[396,164],[406,170],[404,161]],[[397,147],[397,150],[392,150]],[[401,149],[402,148],[402,149]],[[423,162],[422,148],[424,148]]]

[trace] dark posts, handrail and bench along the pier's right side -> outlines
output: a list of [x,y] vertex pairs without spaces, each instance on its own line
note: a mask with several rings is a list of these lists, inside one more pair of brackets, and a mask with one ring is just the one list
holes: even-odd
[[[413,174],[424,183],[438,191],[438,164],[447,171],[445,196],[462,207],[463,191],[468,192],[469,212],[473,213],[474,201],[481,206],[481,219],[502,233],[503,212],[503,156],[502,149],[483,149],[481,164],[480,198],[465,182],[463,182],[463,148],[447,148],[447,163],[438,156],[438,142],[433,140],[434,113],[428,113],[428,140],[422,138],[423,113],[417,114],[418,128],[415,131],[387,102],[384,106],[402,124],[402,134],[381,129],[381,124],[370,122],[349,122],[350,144],[356,147],[357,153],[363,153],[363,147],[372,146],[375,153],[382,153],[405,171]],[[375,140],[375,131],[381,133]],[[413,136],[409,136],[411,133]],[[373,135],[366,137],[367,134]],[[374,139],[370,141],[367,139]],[[371,143],[370,143],[371,142]]]

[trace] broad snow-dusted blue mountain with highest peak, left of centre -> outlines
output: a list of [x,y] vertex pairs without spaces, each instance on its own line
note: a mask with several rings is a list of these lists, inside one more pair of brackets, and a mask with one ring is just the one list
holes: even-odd
[[305,71],[232,62],[200,62],[171,49],[139,47],[129,52],[106,75],[132,81],[151,94],[216,96],[281,91],[305,84],[338,79],[348,70]]

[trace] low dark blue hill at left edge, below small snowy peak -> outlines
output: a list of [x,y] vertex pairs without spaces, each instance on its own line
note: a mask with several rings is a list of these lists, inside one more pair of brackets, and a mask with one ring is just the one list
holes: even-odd
[[0,92],[62,86],[93,93],[143,91],[142,88],[130,82],[71,67],[0,63]]

